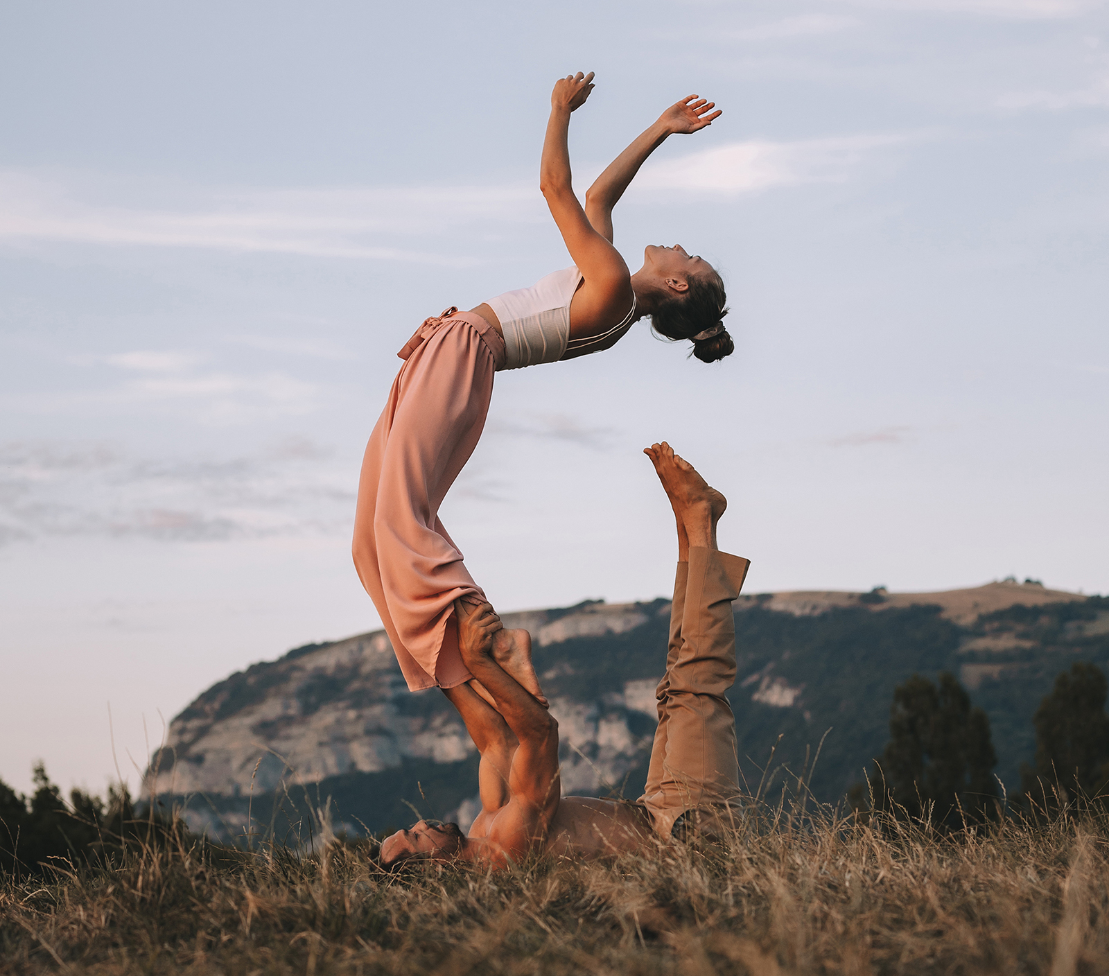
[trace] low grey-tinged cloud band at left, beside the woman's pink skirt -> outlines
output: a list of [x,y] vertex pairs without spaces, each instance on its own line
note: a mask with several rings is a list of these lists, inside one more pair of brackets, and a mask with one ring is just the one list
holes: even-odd
[[0,545],[99,536],[161,541],[334,533],[349,472],[305,438],[238,457],[144,457],[111,445],[0,445]]

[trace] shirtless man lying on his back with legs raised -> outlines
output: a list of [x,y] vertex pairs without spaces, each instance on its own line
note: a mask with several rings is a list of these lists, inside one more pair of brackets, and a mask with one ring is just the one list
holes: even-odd
[[667,673],[659,684],[647,789],[635,803],[560,796],[558,722],[492,657],[500,619],[488,603],[459,601],[459,650],[474,678],[446,689],[481,753],[481,813],[457,824],[420,821],[381,844],[385,865],[411,857],[494,866],[532,851],[598,857],[643,850],[675,824],[716,833],[739,802],[735,719],[725,692],[735,681],[732,601],[749,562],[716,548],[728,501],[665,441],[645,448],[678,521],[678,573]]

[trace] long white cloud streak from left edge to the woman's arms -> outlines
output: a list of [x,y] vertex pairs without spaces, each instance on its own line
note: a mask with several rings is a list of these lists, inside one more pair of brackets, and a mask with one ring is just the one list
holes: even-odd
[[[94,181],[92,181],[94,182]],[[116,195],[128,196],[125,189]],[[191,192],[157,209],[94,202],[88,179],[0,172],[0,241],[52,241],[146,247],[196,247],[374,261],[466,265],[472,256],[438,246],[398,246],[460,224],[528,222],[543,216],[532,184],[372,186],[323,190]]]

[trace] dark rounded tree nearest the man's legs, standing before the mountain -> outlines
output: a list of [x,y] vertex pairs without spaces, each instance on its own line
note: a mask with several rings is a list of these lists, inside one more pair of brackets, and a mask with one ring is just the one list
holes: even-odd
[[958,830],[985,820],[997,799],[995,765],[989,719],[971,708],[955,675],[944,672],[937,687],[914,674],[894,690],[889,742],[871,784],[874,805]]

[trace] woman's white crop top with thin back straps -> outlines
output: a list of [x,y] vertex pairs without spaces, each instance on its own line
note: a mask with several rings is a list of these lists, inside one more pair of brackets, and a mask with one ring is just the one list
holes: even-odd
[[517,288],[490,298],[488,305],[500,321],[505,335],[502,369],[519,369],[561,359],[571,346],[586,349],[624,328],[635,314],[635,301],[623,322],[602,335],[570,340],[570,302],[581,283],[576,266],[552,272],[530,288]]

